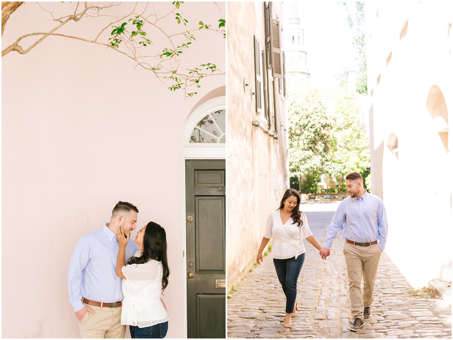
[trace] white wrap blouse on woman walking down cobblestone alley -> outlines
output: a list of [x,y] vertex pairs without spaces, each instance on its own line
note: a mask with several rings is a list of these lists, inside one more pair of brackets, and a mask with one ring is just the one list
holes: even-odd
[[280,209],[274,210],[269,214],[266,222],[265,238],[272,238],[271,256],[275,259],[289,259],[297,257],[305,252],[305,246],[302,239],[312,234],[308,227],[307,217],[300,212],[302,224],[300,226],[294,223],[292,217],[289,217],[285,224],[280,217]]

